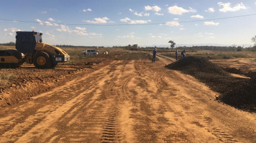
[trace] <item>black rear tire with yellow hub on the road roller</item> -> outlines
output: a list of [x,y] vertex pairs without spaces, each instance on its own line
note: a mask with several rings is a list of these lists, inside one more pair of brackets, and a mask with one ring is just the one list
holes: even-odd
[[52,60],[46,52],[37,52],[33,56],[33,64],[36,68],[51,68]]

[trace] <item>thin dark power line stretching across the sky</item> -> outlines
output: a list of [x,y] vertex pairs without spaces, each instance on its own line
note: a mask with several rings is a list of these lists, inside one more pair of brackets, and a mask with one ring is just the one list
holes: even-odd
[[[183,21],[183,22],[178,22],[178,23],[189,23],[189,22],[203,22],[203,21],[208,21],[208,20],[223,20],[223,19],[229,19],[229,18],[240,18],[240,17],[245,17],[245,16],[255,16],[256,14],[247,14],[247,15],[242,15],[242,16],[230,16],[230,17],[224,17],[224,18],[212,18],[212,19],[206,19],[206,20],[192,20],[192,21]],[[9,19],[1,19],[3,21],[12,21],[12,22],[26,22],[26,23],[43,23],[43,24],[54,24],[50,22],[32,22],[32,21],[25,21],[25,20],[9,20]],[[159,25],[159,24],[167,24],[165,23],[146,23],[146,24],[65,24],[65,23],[60,23],[59,25],[83,25],[83,26],[144,26],[144,25]]]

